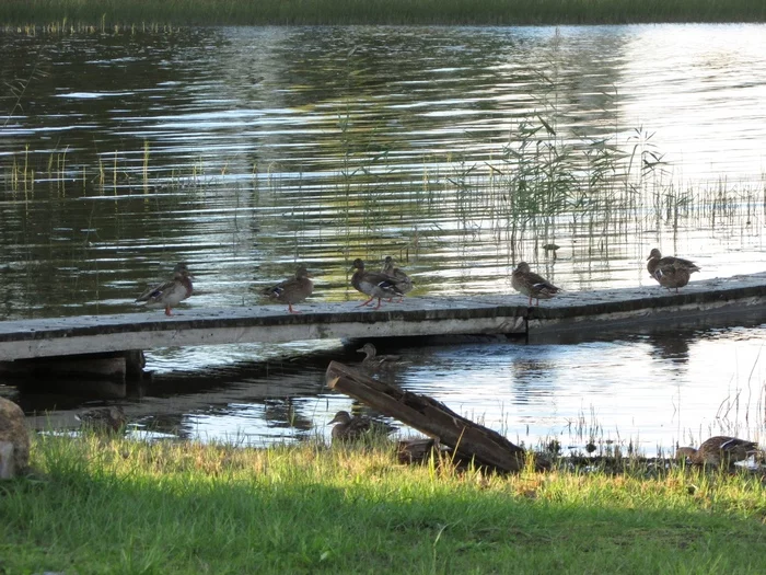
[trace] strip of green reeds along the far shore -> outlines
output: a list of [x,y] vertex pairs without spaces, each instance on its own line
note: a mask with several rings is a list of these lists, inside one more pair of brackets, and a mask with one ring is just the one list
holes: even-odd
[[197,25],[766,22],[762,0],[3,0],[5,32]]

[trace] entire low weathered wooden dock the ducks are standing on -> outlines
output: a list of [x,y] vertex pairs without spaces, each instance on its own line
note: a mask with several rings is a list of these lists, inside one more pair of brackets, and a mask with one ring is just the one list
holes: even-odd
[[285,306],[80,315],[0,322],[0,361],[155,347],[326,338],[534,334],[596,330],[606,324],[766,309],[766,273],[693,281],[671,294],[659,286],[569,291],[539,307],[518,294],[406,298],[380,310],[359,301],[309,303],[303,313]]

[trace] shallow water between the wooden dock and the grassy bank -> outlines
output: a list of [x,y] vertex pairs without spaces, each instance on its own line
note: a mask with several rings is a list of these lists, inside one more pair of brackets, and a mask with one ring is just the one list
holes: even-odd
[[[590,337],[569,334],[567,343],[554,336],[396,348],[394,341],[383,349],[401,354],[406,364],[375,376],[443,401],[525,445],[557,438],[581,450],[596,439],[632,444],[651,455],[658,446],[721,433],[757,440],[764,429],[764,321],[762,313],[743,320],[743,327],[708,322],[681,335],[672,325],[634,326]],[[361,367],[353,353],[358,345],[201,372],[158,370],[149,386],[117,403],[137,437],[256,446],[329,440],[326,424],[337,411],[367,411],[324,386],[330,360]],[[0,393],[36,413],[30,421],[40,429],[77,429],[73,414],[103,403],[25,387]]]

